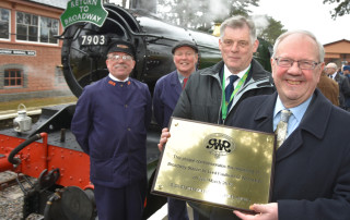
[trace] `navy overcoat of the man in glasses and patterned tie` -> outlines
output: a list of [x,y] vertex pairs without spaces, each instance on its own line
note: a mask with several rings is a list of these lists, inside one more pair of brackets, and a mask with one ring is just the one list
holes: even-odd
[[[228,124],[272,133],[277,93],[243,101]],[[350,219],[350,113],[316,89],[299,127],[276,152],[279,219]]]

